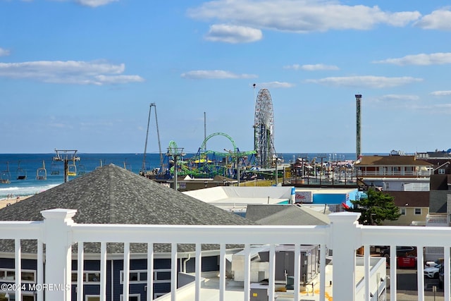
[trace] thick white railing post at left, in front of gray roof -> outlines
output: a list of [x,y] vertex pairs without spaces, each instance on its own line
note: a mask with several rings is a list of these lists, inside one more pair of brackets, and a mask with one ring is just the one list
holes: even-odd
[[44,216],[45,279],[44,295],[48,301],[70,301],[72,234],[75,209],[41,211]]

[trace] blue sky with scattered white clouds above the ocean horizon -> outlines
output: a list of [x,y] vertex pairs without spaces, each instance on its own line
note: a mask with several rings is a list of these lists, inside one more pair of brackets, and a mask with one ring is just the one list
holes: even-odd
[[445,2],[0,0],[0,152],[143,152],[151,103],[149,153],[155,108],[163,152],[249,151],[264,88],[276,152],[355,152],[355,94],[362,152],[449,149]]

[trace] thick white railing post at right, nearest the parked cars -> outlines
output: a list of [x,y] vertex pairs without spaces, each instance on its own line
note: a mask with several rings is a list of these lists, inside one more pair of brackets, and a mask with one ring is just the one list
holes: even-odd
[[354,212],[329,214],[334,301],[355,300],[355,251],[362,245],[362,233],[357,222],[359,216],[359,213]]

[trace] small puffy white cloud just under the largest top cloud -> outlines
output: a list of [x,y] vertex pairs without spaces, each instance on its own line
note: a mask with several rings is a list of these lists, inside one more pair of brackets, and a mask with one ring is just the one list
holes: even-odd
[[205,39],[213,42],[248,43],[261,39],[261,30],[252,27],[216,24],[211,25]]

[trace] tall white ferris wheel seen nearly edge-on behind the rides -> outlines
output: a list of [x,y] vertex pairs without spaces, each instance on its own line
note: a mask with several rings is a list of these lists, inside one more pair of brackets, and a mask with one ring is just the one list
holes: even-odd
[[255,102],[254,149],[257,164],[263,168],[271,167],[274,152],[273,102],[269,90],[261,89]]

